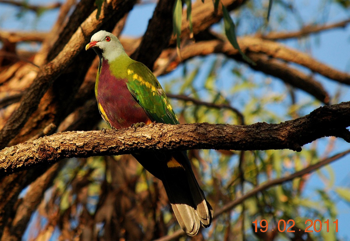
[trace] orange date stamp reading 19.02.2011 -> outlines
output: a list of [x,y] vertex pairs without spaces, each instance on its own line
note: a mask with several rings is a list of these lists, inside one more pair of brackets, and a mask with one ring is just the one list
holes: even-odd
[[[259,231],[262,233],[265,233],[268,229],[268,221],[266,219],[261,219],[260,222],[258,223],[258,219],[255,219],[253,221],[253,224],[255,224],[255,233],[258,232],[258,224],[260,226]],[[289,220],[283,220],[280,219],[277,223],[277,229],[279,232],[287,232],[287,233],[294,233],[295,232],[295,221],[293,219]],[[338,233],[338,219],[335,221],[329,223],[329,219],[326,221],[322,222],[320,219],[315,219],[314,221],[312,219],[307,219],[305,220],[305,229],[303,232],[305,233],[312,233],[312,232],[321,232],[322,228],[326,229],[327,233],[329,233],[329,226],[330,225],[335,225],[335,232]],[[288,226],[288,227],[287,227]],[[272,229],[274,231],[274,229]],[[302,231],[302,229],[299,229],[299,231]]]

